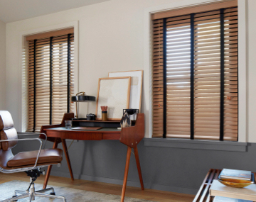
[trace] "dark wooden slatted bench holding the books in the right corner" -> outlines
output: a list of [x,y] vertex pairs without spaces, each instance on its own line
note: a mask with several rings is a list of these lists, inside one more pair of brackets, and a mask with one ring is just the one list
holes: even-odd
[[[213,179],[218,179],[218,176],[221,172],[221,169],[210,169],[206,174],[205,179],[203,179],[203,183],[196,193],[196,197],[193,199],[193,202],[211,202],[213,201],[214,196],[210,196],[209,190],[210,186],[213,183]],[[256,174],[254,174],[254,179]]]

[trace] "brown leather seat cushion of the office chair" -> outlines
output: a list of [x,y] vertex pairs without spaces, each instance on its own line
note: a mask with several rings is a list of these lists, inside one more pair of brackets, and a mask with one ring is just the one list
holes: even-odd
[[[41,150],[40,156],[38,158],[38,164],[52,164],[60,163],[63,159],[63,151],[60,149],[46,149]],[[7,166],[8,167],[26,167],[33,166],[36,163],[36,157],[38,155],[38,150],[29,152],[19,152],[13,158],[11,158]]]

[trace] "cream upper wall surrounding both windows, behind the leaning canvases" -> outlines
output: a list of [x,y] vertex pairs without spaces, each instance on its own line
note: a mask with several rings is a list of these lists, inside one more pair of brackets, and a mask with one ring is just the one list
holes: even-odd
[[[14,115],[14,123],[21,130],[21,33],[79,21],[79,91],[97,96],[97,82],[108,72],[144,69],[144,11],[152,6],[170,4],[176,0],[112,0],[38,18],[6,25],[6,107]],[[191,0],[190,4],[206,0]],[[256,2],[247,2],[248,52],[247,60],[247,127],[248,141],[256,142]],[[146,69],[144,69],[146,70]],[[149,72],[149,71],[145,71]],[[144,80],[149,81],[149,74]],[[146,84],[149,85],[149,84]],[[143,92],[142,111],[149,91]],[[88,106],[88,109],[87,109]],[[95,113],[95,103],[80,103],[80,115]],[[149,128],[146,122],[146,128]],[[146,134],[148,135],[148,134]]]

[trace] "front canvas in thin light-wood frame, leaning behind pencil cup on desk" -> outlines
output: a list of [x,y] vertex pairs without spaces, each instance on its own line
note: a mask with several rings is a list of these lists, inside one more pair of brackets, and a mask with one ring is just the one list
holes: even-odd
[[108,120],[121,120],[123,109],[129,108],[131,81],[132,77],[99,79],[96,103],[97,120],[102,119],[100,106],[107,106]]

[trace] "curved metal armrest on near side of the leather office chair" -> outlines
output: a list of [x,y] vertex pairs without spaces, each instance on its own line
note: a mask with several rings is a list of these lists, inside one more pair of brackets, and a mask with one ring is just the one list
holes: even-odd
[[[11,172],[17,172],[17,171],[26,171],[26,170],[31,170],[31,169],[34,169],[38,163],[38,158],[40,156],[40,153],[41,153],[41,150],[42,150],[42,145],[43,145],[43,142],[40,138],[24,138],[24,139],[16,139],[15,141],[26,141],[26,140],[38,140],[40,142],[40,147],[39,147],[39,150],[38,150],[38,155],[36,157],[36,162],[35,164],[33,165],[33,167],[26,167],[26,168],[18,168],[18,169],[3,169],[0,167],[1,169],[1,172],[4,172],[4,173],[11,173]],[[14,141],[14,140],[0,140],[0,142],[10,142],[10,141]]]

